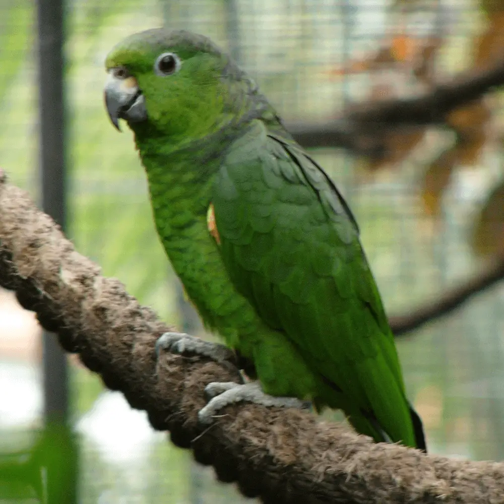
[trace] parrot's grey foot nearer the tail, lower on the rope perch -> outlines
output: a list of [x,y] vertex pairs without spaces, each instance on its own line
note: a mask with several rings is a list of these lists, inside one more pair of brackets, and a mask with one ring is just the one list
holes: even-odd
[[210,401],[198,413],[198,419],[205,425],[214,421],[214,417],[220,409],[242,401],[279,408],[309,409],[311,406],[309,402],[300,401],[295,397],[274,397],[265,394],[257,381],[243,385],[234,382],[213,382],[207,385],[205,394]]

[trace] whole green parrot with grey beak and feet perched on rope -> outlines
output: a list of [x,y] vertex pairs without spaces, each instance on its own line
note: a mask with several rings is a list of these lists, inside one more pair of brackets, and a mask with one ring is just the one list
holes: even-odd
[[210,384],[201,422],[237,401],[308,402],[425,450],[355,218],[255,82],[208,38],[162,28],[120,42],[106,68],[108,114],[134,133],[168,258],[226,343],[167,333],[157,349],[232,349],[257,377]]

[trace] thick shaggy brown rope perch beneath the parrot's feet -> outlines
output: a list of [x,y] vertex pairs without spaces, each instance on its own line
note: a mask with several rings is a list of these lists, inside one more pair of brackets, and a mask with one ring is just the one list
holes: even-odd
[[102,277],[2,173],[0,242],[0,285],[14,290],[107,387],[145,409],[154,428],[169,430],[177,446],[191,448],[243,494],[267,503],[502,502],[502,463],[376,445],[305,412],[230,406],[203,430],[196,413],[205,403],[204,386],[237,380],[236,369],[172,354],[156,362],[155,340],[169,328],[119,281]]

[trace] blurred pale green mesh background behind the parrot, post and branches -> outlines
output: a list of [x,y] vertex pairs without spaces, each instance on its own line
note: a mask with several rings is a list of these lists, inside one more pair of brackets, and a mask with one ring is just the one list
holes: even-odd
[[[160,25],[200,32],[225,47],[312,146],[319,144],[310,128],[344,117],[355,103],[416,96],[504,54],[503,0],[67,2],[66,232],[104,275],[198,335],[201,326],[154,231],[132,135],[127,128],[117,134],[103,107],[106,53],[123,37]],[[0,166],[35,201],[41,201],[45,127],[38,49],[37,5],[2,0]],[[380,155],[327,141],[310,149],[356,214],[389,314],[443,298],[500,260],[501,101],[494,92],[447,114],[442,124],[376,131]],[[448,317],[398,337],[408,395],[431,453],[504,460],[503,329],[504,289],[497,283]],[[42,353],[33,313],[0,290],[0,452],[29,447],[31,433],[43,425],[50,369]],[[68,397],[80,502],[240,500],[232,485],[215,482],[211,470],[170,446],[143,412],[104,390],[73,358]]]

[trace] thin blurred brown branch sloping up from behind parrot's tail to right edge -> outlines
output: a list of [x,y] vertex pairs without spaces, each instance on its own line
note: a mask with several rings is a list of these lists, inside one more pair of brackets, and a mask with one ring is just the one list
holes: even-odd
[[496,260],[478,276],[454,287],[439,297],[429,301],[404,315],[389,317],[394,336],[406,336],[425,324],[445,317],[459,308],[471,297],[480,294],[504,279],[504,258]]

